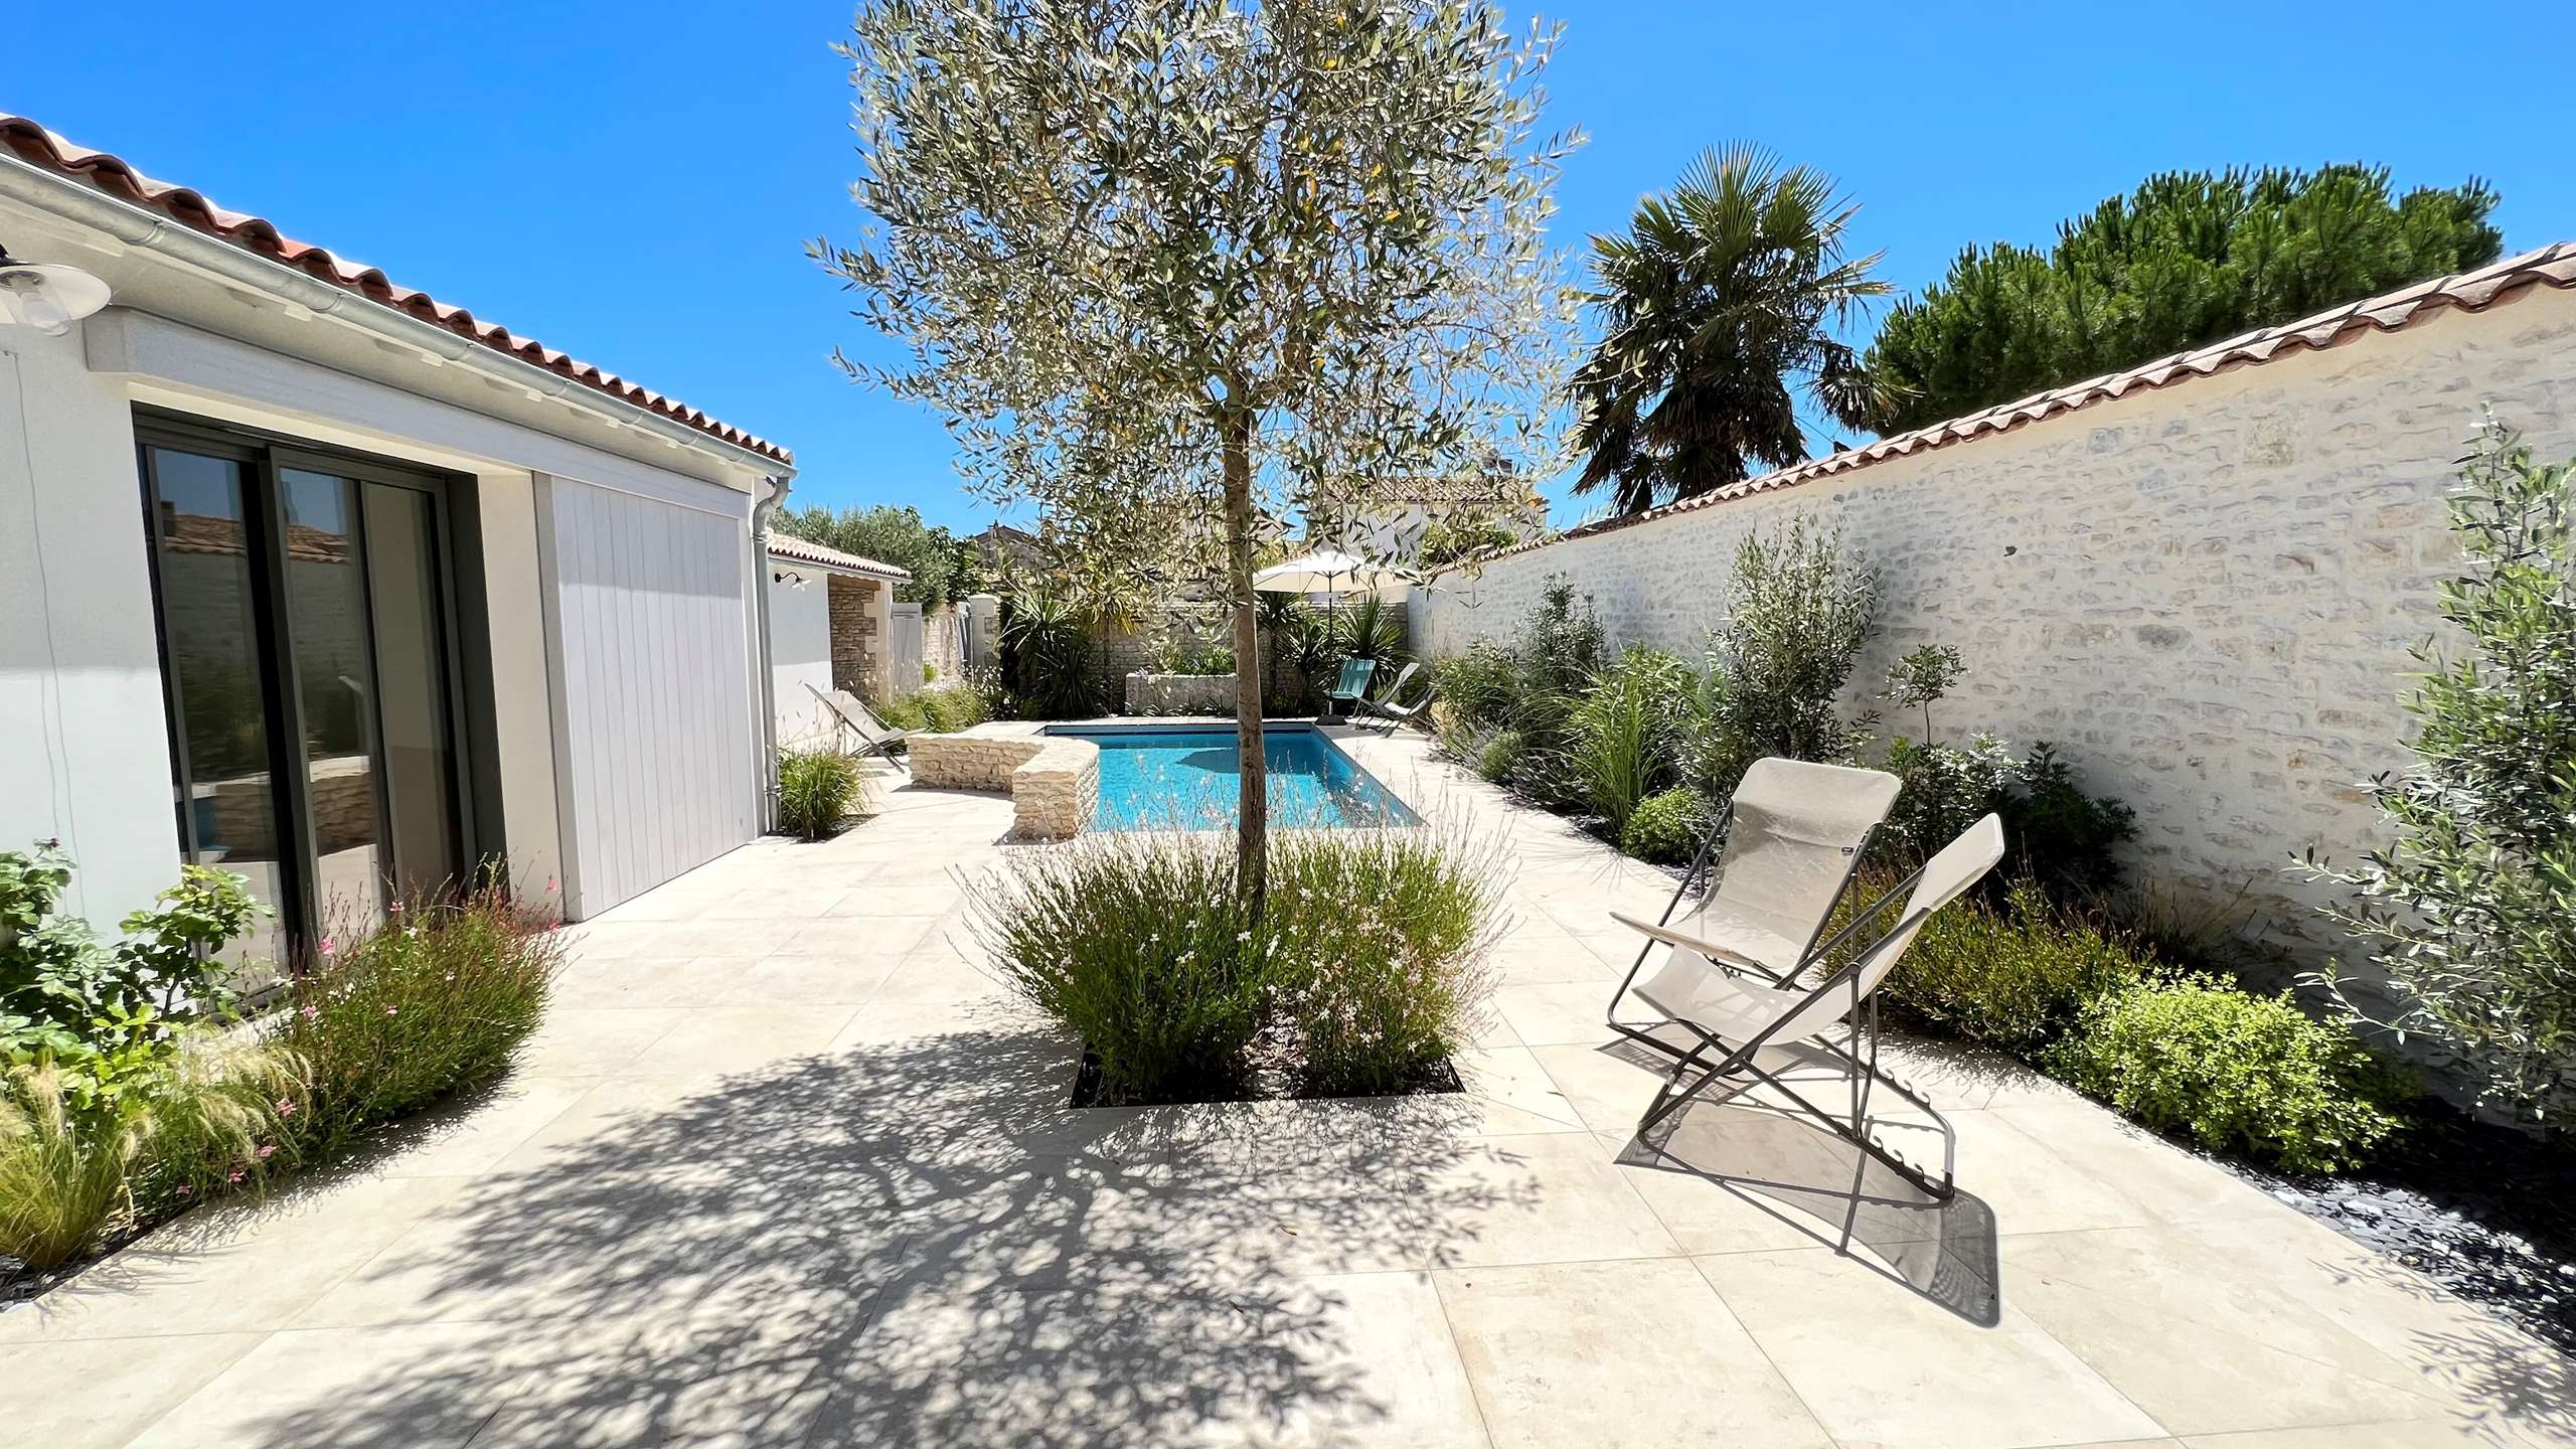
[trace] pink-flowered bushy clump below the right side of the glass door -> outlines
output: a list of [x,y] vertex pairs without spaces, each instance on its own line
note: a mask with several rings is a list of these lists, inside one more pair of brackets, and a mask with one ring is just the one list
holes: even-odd
[[384,926],[322,941],[291,980],[270,1044],[307,1085],[283,1129],[304,1160],[500,1078],[546,1013],[562,964],[549,920],[502,887],[394,902]]

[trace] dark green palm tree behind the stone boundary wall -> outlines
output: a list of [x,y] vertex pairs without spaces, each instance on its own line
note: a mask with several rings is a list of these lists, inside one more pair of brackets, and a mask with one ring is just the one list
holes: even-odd
[[1638,204],[1625,235],[1592,237],[1602,340],[1574,371],[1589,454],[1574,490],[1638,513],[1801,462],[1793,376],[1826,418],[1868,425],[1883,389],[1826,333],[1891,291],[1870,276],[1883,253],[1842,255],[1857,209],[1819,170],[1728,147]]

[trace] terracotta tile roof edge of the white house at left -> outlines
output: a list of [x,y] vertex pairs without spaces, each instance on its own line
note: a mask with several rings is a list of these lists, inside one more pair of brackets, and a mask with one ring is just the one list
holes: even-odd
[[569,358],[544,343],[520,338],[518,333],[510,333],[497,322],[482,322],[464,307],[451,307],[446,302],[438,302],[428,291],[394,286],[381,271],[348,258],[337,258],[330,250],[317,248],[312,242],[299,242],[278,232],[278,227],[265,217],[252,217],[247,211],[227,211],[198,191],[191,191],[185,186],[173,186],[167,180],[155,180],[126,165],[121,157],[72,144],[26,116],[13,116],[8,111],[0,111],[0,147],[8,147],[28,165],[54,170],[75,180],[85,180],[118,201],[129,201],[134,206],[144,206],[147,211],[170,217],[183,227],[206,232],[209,237],[232,242],[247,253],[291,266],[332,286],[355,291],[368,302],[392,307],[397,312],[410,312],[412,317],[420,317],[422,322],[435,322],[438,327],[456,333],[459,338],[469,338],[492,351],[510,353],[520,361],[531,361],[546,371],[569,376],[572,382],[605,392],[621,402],[631,402],[649,413],[675,418],[701,433],[724,438],[737,449],[747,449],[752,454],[783,464],[796,462],[796,456],[781,449],[778,443],[744,433],[742,428],[734,428],[729,423],[719,423],[716,418],[708,418],[706,413],[680,402],[677,397],[662,397],[659,392],[636,387],[634,382],[600,371],[585,361]]

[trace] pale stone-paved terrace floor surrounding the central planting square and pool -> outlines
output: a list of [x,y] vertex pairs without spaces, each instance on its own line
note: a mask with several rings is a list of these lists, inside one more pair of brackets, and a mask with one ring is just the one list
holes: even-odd
[[[1409,740],[1517,856],[1468,1096],[1069,1111],[899,789],[585,928],[526,1067],[402,1150],[0,1315],[13,1444],[2195,1444],[2568,1434],[2545,1348],[2027,1073],[1909,1052],[1963,1194],[1605,1049],[1664,879]],[[1012,846],[1023,848],[1023,846]],[[1891,1134],[1919,1132],[1888,1124]],[[1922,1145],[1909,1150],[1917,1160]],[[1860,1245],[1837,1253],[1844,1217]]]

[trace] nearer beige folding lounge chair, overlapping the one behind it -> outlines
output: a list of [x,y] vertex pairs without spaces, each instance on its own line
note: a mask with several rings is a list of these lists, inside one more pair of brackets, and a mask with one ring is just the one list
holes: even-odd
[[[1716,964],[1718,957],[1710,954],[1718,949],[1716,944],[1654,928],[1654,936],[1659,941],[1669,941],[1672,951],[1667,954],[1664,967],[1636,987],[1636,995],[1646,1006],[1664,1013],[1667,1029],[1687,1031],[1698,1039],[1698,1044],[1680,1055],[1667,1080],[1656,1083],[1654,1101],[1636,1124],[1638,1142],[1646,1142],[1646,1134],[1659,1122],[1680,1111],[1713,1083],[1752,1075],[1824,1127],[1834,1129],[1837,1137],[1896,1171],[1935,1201],[1947,1201],[1953,1194],[1947,1160],[1942,1163],[1940,1178],[1932,1178],[1924,1168],[1917,1168],[1888,1147],[1880,1147],[1868,1127],[1870,1088],[1886,1085],[1929,1114],[1947,1137],[1947,1119],[1942,1119],[1929,1101],[1878,1070],[1878,987],[1888,980],[1888,972],[1896,969],[1896,962],[1906,954],[1906,946],[1914,944],[1914,936],[1922,933],[1924,920],[1960,895],[1968,895],[1968,890],[1986,879],[1986,871],[1991,871],[2002,859],[2004,822],[1989,815],[1960,833],[1958,841],[1942,846],[1937,856],[1924,861],[1919,871],[1875,905],[1852,915],[1852,923],[1837,931],[1834,938],[1806,951],[1801,967],[1839,959],[1839,964],[1814,985],[1801,985],[1795,972],[1783,980],[1767,980],[1767,972],[1747,975],[1728,969]],[[1873,923],[1886,920],[1888,908],[1899,902],[1899,897],[1904,900],[1904,908],[1896,913],[1896,923],[1888,926],[1883,936],[1870,938],[1868,933],[1878,928]],[[1842,957],[1842,951],[1857,941],[1868,944]],[[1837,1029],[1842,1029],[1839,1042],[1834,1039]],[[1868,1039],[1868,1055],[1862,1055],[1862,1039]],[[1842,1067],[1852,1098],[1850,1114],[1816,1106],[1798,1093],[1798,1088],[1780,1080],[1759,1062],[1757,1055],[1765,1047],[1788,1044],[1803,1044]],[[1690,1085],[1682,1085],[1685,1078]]]

